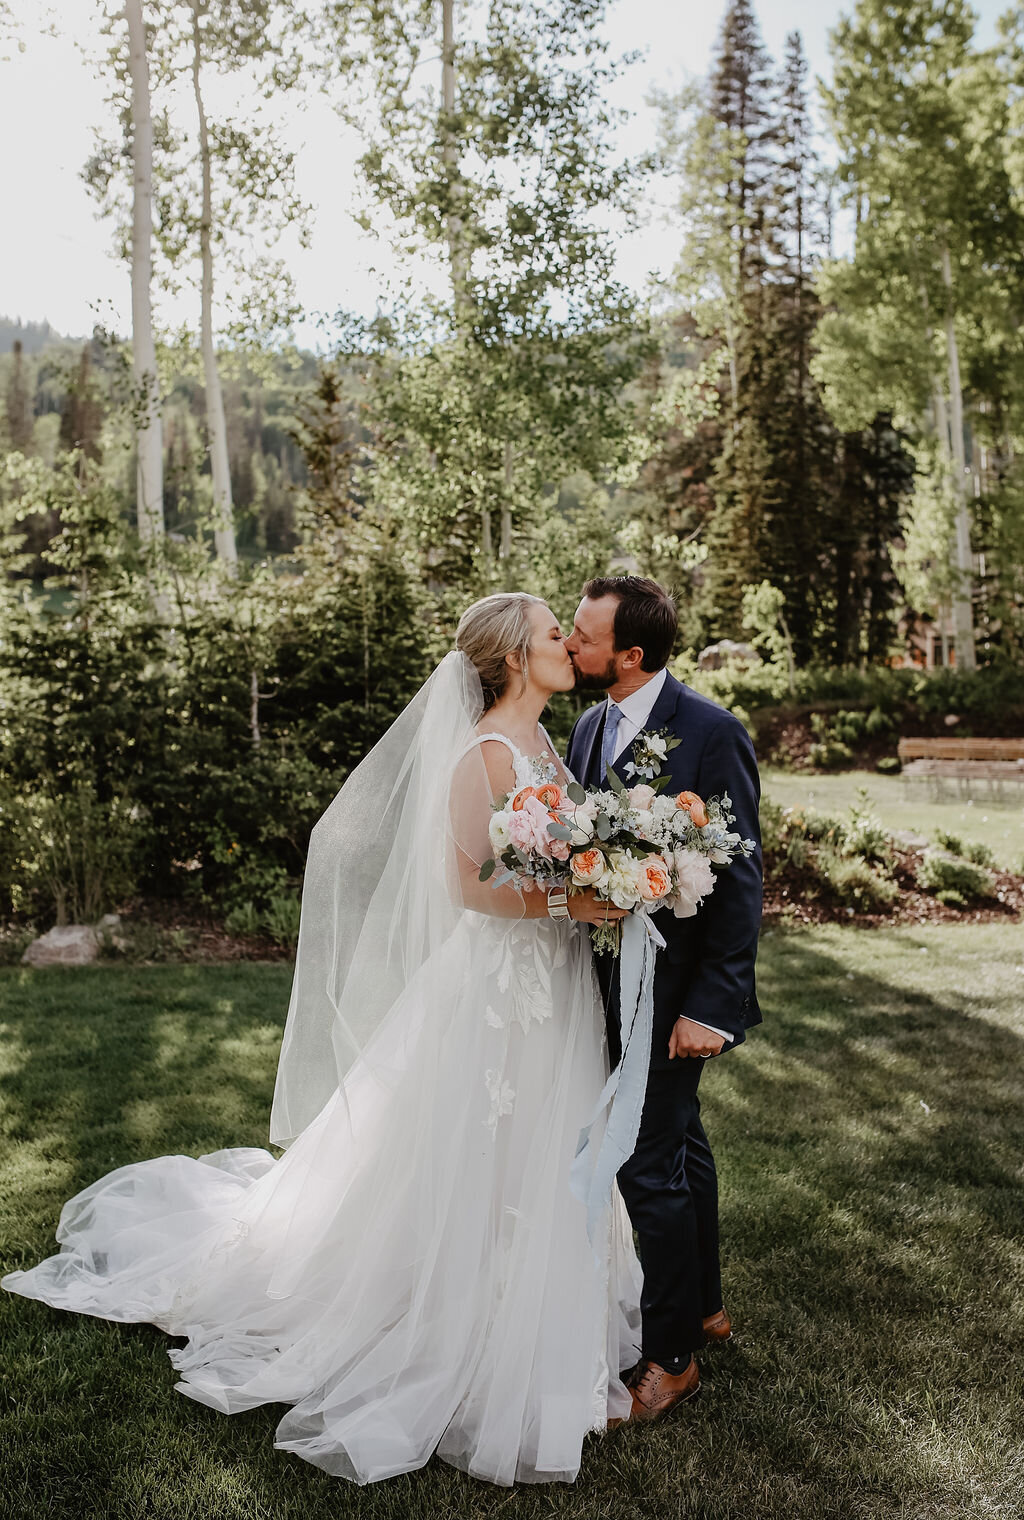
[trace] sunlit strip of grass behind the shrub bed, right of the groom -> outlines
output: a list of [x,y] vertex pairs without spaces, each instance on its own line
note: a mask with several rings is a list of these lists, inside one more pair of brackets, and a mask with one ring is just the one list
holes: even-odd
[[814,807],[819,813],[843,813],[857,801],[858,787],[889,828],[909,828],[930,838],[945,828],[962,839],[991,847],[1007,871],[1024,872],[1024,804],[933,803],[898,775],[875,771],[842,771],[837,775],[801,775],[796,771],[761,771],[766,796],[782,807]]

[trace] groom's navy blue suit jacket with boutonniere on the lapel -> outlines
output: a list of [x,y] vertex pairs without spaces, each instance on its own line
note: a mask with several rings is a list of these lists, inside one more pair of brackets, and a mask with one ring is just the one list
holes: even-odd
[[[600,774],[603,717],[602,702],[588,708],[570,734],[567,765],[585,786],[608,786]],[[716,871],[714,892],[694,918],[676,918],[668,909],[655,915],[667,945],[658,952],[652,1066],[667,1066],[668,1035],[681,1015],[726,1031],[734,1044],[741,1043],[751,1024],[761,1021],[754,982],[761,927],[761,783],[743,724],[672,675],[665,676],[646,724],[647,731],[658,728],[667,728],[681,740],[662,766],[662,775],[672,777],[665,792],[696,792],[705,801],[728,792],[735,813],[732,827],[743,839],[758,844],[752,856],[737,856],[732,865]],[[631,745],[612,766],[627,786],[637,780],[624,774],[629,760]],[[603,961],[608,958],[599,958],[599,970],[606,970]],[[605,980],[608,976],[602,976],[602,985]],[[612,1059],[618,1059],[617,1050]]]

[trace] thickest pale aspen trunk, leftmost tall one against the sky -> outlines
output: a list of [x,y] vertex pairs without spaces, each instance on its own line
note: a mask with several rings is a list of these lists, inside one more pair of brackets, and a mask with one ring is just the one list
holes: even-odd
[[143,0],[125,0],[132,81],[132,375],[135,380],[135,447],[138,537],[147,544],[164,534],[164,435],[153,339],[153,116]]

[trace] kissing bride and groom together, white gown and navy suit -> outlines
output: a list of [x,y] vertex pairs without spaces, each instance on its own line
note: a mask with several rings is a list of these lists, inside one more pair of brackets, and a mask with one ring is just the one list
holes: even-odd
[[[588,926],[624,914],[593,888],[480,880],[495,800],[609,768],[629,784],[652,754],[758,838],[751,740],[668,673],[675,637],[670,596],[637,576],[588,582],[568,635],[526,593],[468,608],[313,831],[284,1154],[123,1166],[3,1286],[185,1336],[181,1392],[289,1404],[277,1446],[359,1484],[435,1452],[494,1484],[573,1482],[588,1432],[691,1398],[694,1353],[731,1335],[697,1088],[761,1017],[760,853],[694,915],[655,918],[643,1117],[589,1231],[570,1170],[631,1014]],[[541,714],[574,689],[606,696],[562,757]]]

